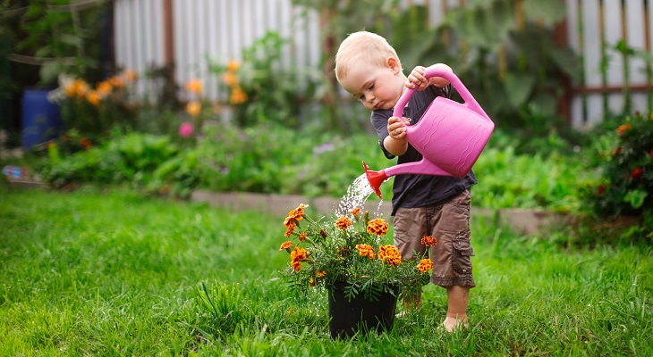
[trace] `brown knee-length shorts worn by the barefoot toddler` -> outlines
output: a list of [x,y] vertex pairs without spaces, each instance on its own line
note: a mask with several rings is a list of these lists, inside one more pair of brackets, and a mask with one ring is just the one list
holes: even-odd
[[[470,236],[471,191],[425,207],[399,208],[394,214],[394,246],[403,260],[430,257],[438,286],[475,286],[471,275]],[[437,245],[428,248],[421,238],[431,236]]]

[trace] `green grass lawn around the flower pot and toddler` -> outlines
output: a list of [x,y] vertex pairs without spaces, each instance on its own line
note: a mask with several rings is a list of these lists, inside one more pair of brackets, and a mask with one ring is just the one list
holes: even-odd
[[332,341],[325,294],[278,279],[284,217],[128,190],[0,196],[3,356],[653,355],[649,245],[565,250],[474,221],[470,331],[437,331],[445,291],[428,286],[394,330]]

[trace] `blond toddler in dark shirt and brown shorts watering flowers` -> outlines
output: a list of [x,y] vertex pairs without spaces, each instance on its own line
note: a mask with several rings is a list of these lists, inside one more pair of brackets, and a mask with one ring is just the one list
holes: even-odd
[[[445,64],[437,66],[451,71]],[[406,140],[402,120],[415,124],[436,96],[451,94],[448,80],[426,79],[424,73],[424,67],[418,66],[406,78],[394,48],[384,37],[367,31],[344,39],[335,54],[338,82],[372,111],[371,122],[381,150],[388,159],[398,157],[397,164],[421,160],[421,154]],[[396,118],[394,104],[407,87],[418,91],[411,97],[403,118]],[[430,281],[446,289],[448,309],[443,325],[449,332],[469,327],[469,292],[475,286],[470,259],[474,255],[470,244],[470,187],[476,183],[473,172],[463,179],[412,174],[394,177],[394,245],[403,260],[429,255],[434,262]],[[437,239],[437,245],[428,252],[421,243],[425,236]],[[420,298],[416,296],[404,304],[407,308],[417,307]]]

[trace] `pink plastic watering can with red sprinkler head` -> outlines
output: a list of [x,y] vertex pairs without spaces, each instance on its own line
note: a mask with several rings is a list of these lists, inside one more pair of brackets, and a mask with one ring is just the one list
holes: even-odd
[[[495,129],[495,123],[489,119],[488,114],[454,73],[428,67],[426,77],[448,79],[465,104],[438,96],[417,124],[407,126],[406,138],[422,154],[420,162],[406,162],[380,171],[369,170],[368,165],[363,162],[369,185],[379,198],[379,187],[394,175],[411,173],[464,178],[479,159]],[[414,93],[415,89],[406,89],[403,92],[394,105],[393,116],[403,117],[403,108]]]

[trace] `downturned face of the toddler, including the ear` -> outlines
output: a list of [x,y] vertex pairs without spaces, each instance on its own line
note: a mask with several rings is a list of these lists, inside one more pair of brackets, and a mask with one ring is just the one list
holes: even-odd
[[392,57],[385,67],[356,62],[348,70],[340,84],[370,111],[392,109],[402,96],[405,76]]

